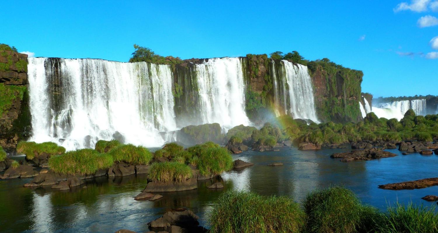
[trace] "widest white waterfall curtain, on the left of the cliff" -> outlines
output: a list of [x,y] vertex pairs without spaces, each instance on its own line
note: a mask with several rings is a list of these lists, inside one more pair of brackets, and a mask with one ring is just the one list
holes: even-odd
[[101,59],[28,59],[32,139],[67,150],[113,138],[159,146],[176,129],[168,65]]

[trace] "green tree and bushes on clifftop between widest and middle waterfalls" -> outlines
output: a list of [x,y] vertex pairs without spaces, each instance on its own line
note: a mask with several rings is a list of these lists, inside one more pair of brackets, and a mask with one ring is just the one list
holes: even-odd
[[146,47],[141,47],[140,45],[134,44],[135,51],[132,53],[131,59],[129,59],[130,63],[133,62],[150,62],[154,64],[168,64],[168,65],[175,65],[183,63],[184,61],[181,60],[179,57],[173,57],[173,56],[160,56],[158,54],[155,54],[151,49]]

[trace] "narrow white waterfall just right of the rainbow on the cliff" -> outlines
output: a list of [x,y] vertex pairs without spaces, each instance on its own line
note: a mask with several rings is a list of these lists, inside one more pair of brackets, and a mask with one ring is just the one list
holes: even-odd
[[313,88],[307,66],[282,60],[272,60],[274,98],[277,108],[293,118],[319,122],[313,96]]

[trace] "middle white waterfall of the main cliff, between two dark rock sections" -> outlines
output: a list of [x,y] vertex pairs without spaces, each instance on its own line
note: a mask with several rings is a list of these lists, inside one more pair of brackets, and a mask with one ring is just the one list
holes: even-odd
[[219,123],[228,130],[250,125],[245,112],[245,85],[239,58],[213,58],[196,65],[201,124]]

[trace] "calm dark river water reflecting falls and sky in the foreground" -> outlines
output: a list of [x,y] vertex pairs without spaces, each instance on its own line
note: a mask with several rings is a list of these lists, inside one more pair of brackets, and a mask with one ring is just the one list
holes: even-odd
[[[222,174],[225,188],[209,190],[214,181],[202,181],[192,191],[161,193],[154,202],[135,201],[145,188],[144,175],[129,177],[99,177],[87,180],[87,188],[55,191],[51,188],[24,188],[32,180],[0,180],[0,232],[104,232],[119,229],[148,232],[147,223],[170,209],[185,207],[200,216],[206,224],[206,214],[212,203],[226,190],[249,190],[261,195],[287,195],[300,202],[314,188],[333,184],[353,190],[362,202],[386,209],[396,201],[436,205],[420,199],[438,195],[438,186],[392,191],[377,188],[379,184],[438,177],[438,156],[402,155],[371,161],[340,162],[329,156],[350,149],[299,151],[282,148],[273,152],[247,151],[233,155],[234,159],[255,165]],[[283,162],[284,166],[267,166]]]

